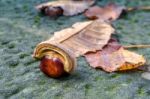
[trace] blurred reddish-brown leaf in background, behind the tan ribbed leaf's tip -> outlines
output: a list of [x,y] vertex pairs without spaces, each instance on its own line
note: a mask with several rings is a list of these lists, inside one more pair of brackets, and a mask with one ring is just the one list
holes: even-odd
[[85,16],[92,20],[102,19],[113,21],[119,18],[123,10],[125,10],[125,7],[110,3],[105,7],[94,6],[89,8],[85,12]]

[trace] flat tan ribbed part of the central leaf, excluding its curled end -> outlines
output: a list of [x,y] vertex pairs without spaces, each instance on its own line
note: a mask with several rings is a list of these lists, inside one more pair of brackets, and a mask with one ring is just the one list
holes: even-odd
[[109,23],[101,20],[78,22],[71,28],[55,32],[52,38],[41,44],[52,44],[62,49],[65,48],[78,57],[89,51],[101,50],[108,43],[114,31]]

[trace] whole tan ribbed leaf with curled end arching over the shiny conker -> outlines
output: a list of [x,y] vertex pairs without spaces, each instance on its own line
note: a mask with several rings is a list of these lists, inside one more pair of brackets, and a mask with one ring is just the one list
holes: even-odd
[[56,57],[64,64],[65,72],[70,73],[75,68],[75,57],[102,49],[112,33],[114,28],[101,20],[78,22],[70,28],[55,32],[52,38],[38,44],[33,56],[37,59]]

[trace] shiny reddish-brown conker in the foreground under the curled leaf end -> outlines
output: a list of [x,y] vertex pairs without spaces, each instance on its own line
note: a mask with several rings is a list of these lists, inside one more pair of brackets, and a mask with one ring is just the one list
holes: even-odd
[[58,78],[66,74],[64,64],[59,58],[45,56],[40,63],[41,71],[49,77]]

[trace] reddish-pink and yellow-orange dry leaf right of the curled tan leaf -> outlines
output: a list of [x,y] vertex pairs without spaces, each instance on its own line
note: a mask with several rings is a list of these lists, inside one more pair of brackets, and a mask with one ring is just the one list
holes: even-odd
[[87,53],[85,57],[93,68],[102,68],[107,72],[135,69],[145,63],[143,56],[125,50],[114,40],[102,51]]

